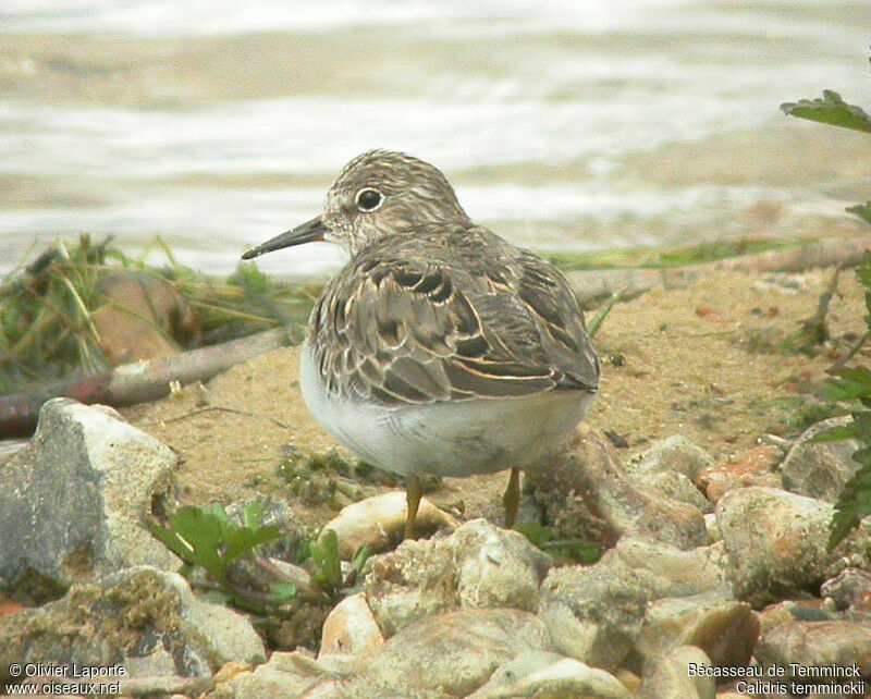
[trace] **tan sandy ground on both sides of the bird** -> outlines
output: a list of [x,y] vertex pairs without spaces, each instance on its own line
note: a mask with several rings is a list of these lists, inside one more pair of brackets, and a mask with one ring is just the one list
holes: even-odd
[[[864,329],[856,274],[841,274],[826,317],[832,340],[819,356],[769,345],[815,311],[833,271],[722,272],[689,289],[617,304],[594,340],[603,376],[588,421],[623,438],[619,453],[627,458],[676,433],[716,458],[740,455],[766,432],[796,433],[825,369]],[[870,358],[868,350],[856,360]],[[333,510],[304,504],[277,476],[284,445],[314,452],[335,446],[308,415],[297,373],[298,350],[281,350],[234,367],[205,391],[187,388],[123,412],[179,454],[184,503],[269,495],[285,499],[303,523],[321,526]],[[505,474],[446,478],[429,496],[473,516],[498,502],[505,482]],[[364,491],[388,488],[368,485]]]

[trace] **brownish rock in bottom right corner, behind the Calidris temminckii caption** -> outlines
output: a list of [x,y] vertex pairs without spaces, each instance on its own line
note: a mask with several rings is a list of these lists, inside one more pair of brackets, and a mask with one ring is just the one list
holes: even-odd
[[[756,658],[765,667],[784,667],[787,677],[792,676],[800,683],[868,680],[871,679],[871,624],[846,621],[784,622],[762,634],[757,643]],[[790,663],[794,663],[792,667]],[[860,677],[802,676],[802,669],[850,669],[854,664],[858,666]],[[860,695],[859,691],[849,694]]]

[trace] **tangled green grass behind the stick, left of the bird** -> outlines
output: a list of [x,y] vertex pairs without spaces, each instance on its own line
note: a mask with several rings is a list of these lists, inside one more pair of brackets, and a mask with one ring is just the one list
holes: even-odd
[[[167,262],[146,262],[155,253]],[[86,234],[77,242],[57,241],[38,255],[29,249],[12,272],[0,277],[0,394],[107,369],[94,314],[107,305],[125,308],[103,286],[119,275],[152,278],[174,289],[196,315],[206,345],[279,326],[289,328],[292,342],[302,341],[319,292],[317,284],[270,280],[253,263],[240,265],[226,280],[207,277],[179,265],[159,237],[138,258],[114,247],[111,236],[96,243]],[[155,329],[184,346],[192,340],[184,332]]]

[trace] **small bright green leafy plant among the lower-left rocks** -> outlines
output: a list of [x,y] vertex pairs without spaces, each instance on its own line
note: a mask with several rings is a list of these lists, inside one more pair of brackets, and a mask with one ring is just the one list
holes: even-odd
[[270,585],[269,594],[241,588],[229,575],[229,566],[243,556],[254,556],[261,543],[281,536],[275,526],[260,526],[266,503],[252,502],[243,510],[242,526],[233,523],[221,505],[200,508],[180,507],[169,518],[169,527],[154,526],[151,534],[185,562],[184,573],[201,567],[218,588],[240,606],[262,611],[265,606],[290,601],[296,588],[286,580]]

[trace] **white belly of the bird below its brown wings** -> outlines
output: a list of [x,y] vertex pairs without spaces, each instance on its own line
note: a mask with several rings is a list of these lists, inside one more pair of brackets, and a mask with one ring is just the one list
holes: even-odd
[[344,402],[324,391],[308,343],[299,388],[315,419],[341,444],[404,476],[469,476],[533,464],[572,433],[594,397],[552,390],[400,408]]

